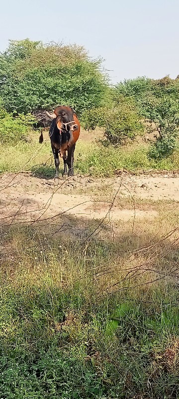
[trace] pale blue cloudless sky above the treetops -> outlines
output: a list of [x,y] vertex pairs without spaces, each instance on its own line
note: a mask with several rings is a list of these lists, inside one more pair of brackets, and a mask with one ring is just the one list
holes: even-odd
[[0,51],[26,37],[84,45],[113,83],[179,74],[179,0],[1,0]]

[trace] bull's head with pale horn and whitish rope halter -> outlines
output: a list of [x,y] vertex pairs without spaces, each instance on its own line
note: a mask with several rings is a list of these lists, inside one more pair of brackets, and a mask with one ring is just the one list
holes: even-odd
[[[70,107],[58,106],[52,114],[46,111],[46,114],[51,119],[56,119],[56,125],[60,133],[67,131],[70,133],[69,146],[73,144],[73,132],[78,130],[79,126],[74,121],[73,110]],[[76,119],[76,117],[75,117]]]

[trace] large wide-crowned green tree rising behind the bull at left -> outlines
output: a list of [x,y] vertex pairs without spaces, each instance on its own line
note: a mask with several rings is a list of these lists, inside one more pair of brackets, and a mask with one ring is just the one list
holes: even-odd
[[80,46],[12,40],[0,54],[0,97],[8,112],[57,104],[72,105],[78,112],[97,107],[107,87],[100,65]]

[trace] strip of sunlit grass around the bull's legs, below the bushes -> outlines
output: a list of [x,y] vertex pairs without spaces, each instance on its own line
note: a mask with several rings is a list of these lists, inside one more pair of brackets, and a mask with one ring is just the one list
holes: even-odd
[[[116,169],[125,168],[132,171],[141,169],[179,169],[179,152],[162,161],[149,160],[148,148],[139,145],[137,148],[103,147],[98,143],[77,142],[75,150],[76,173],[90,173],[94,176],[112,176]],[[18,143],[15,146],[3,146],[0,158],[0,172],[20,172],[33,170],[53,174],[54,160],[49,140],[40,145],[38,137],[32,143]],[[63,161],[61,160],[63,169]]]

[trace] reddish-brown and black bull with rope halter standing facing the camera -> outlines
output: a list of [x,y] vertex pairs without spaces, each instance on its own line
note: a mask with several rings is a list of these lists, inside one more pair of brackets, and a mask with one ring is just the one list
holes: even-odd
[[[59,105],[55,108],[53,114],[46,113],[53,119],[49,130],[49,136],[55,159],[55,178],[59,177],[59,154],[64,160],[64,175],[68,174],[68,176],[73,176],[74,151],[76,142],[80,136],[80,122],[77,115],[70,107]],[[39,142],[43,142],[42,133]]]

